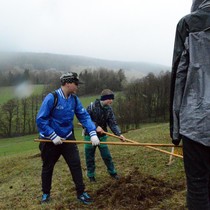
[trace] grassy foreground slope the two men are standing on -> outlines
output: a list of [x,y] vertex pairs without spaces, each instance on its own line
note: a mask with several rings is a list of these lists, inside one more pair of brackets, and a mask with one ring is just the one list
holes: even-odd
[[[138,142],[170,143],[168,124],[148,124],[138,130],[133,130],[124,135],[128,139]],[[81,128],[76,128],[77,139],[82,139]],[[78,145],[81,164],[87,191],[93,196],[95,202],[90,206],[84,206],[75,199],[75,189],[69,169],[61,157],[55,166],[52,183],[52,201],[46,205],[40,205],[41,196],[41,159],[39,157],[38,143],[33,142],[35,135],[20,137],[14,139],[0,140],[0,209],[106,209],[121,210],[131,209],[132,200],[127,205],[121,205],[120,202],[126,198],[132,198],[135,188],[140,185],[143,174],[147,177],[145,180],[150,182],[162,183],[158,188],[158,194],[161,194],[162,188],[168,185],[173,188],[178,184],[180,188],[173,194],[165,194],[162,200],[158,200],[149,208],[144,209],[185,209],[185,174],[183,161],[181,158],[175,158],[174,163],[167,166],[169,155],[154,151],[150,148],[140,146],[109,146],[116,169],[119,175],[128,180],[129,176],[135,177],[134,182],[120,184],[115,183],[106,172],[106,167],[100,157],[99,151],[96,151],[96,179],[95,184],[90,184],[86,177],[86,167],[84,160],[84,146]],[[118,141],[109,137],[109,141]],[[171,148],[163,148],[170,151]],[[135,173],[134,173],[135,172]],[[124,180],[123,179],[123,180]],[[153,181],[152,181],[153,180]],[[120,187],[129,191],[117,191]],[[135,184],[135,185],[134,185]],[[146,184],[143,183],[143,185]],[[151,183],[150,183],[151,184]],[[148,189],[153,189],[148,187]],[[147,190],[148,190],[147,189]],[[108,193],[111,190],[111,194]],[[144,190],[145,192],[147,191]],[[105,191],[103,195],[103,191]],[[139,191],[139,190],[138,190]],[[123,197],[122,197],[123,195]],[[147,196],[147,199],[149,195]],[[139,201],[140,202],[140,201]],[[150,202],[153,202],[152,200]],[[140,203],[139,203],[140,204]],[[135,207],[138,209],[138,206]]]

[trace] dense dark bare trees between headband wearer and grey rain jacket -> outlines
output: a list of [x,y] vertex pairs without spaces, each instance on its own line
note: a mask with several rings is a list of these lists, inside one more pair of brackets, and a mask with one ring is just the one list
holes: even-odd
[[145,122],[167,122],[169,90],[169,71],[128,83],[113,104],[122,131],[138,129]]

